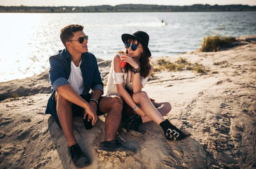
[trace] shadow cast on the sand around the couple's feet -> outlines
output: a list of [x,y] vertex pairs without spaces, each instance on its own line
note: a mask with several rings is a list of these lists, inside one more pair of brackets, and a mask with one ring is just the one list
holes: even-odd
[[[203,169],[209,168],[216,161],[209,158],[203,146],[192,137],[185,141],[167,141],[162,133],[161,127],[154,122],[142,124],[140,130],[144,133],[143,137],[136,138],[125,134],[121,130],[117,139],[125,146],[136,149],[133,157],[119,159],[115,157],[104,156],[96,152],[98,145],[105,137],[104,117],[98,119],[96,125],[91,130],[84,128],[81,117],[73,119],[73,128],[75,137],[81,146],[83,152],[90,160],[90,166],[86,168],[150,168],[150,169]],[[49,132],[58,153],[59,168],[75,169],[76,166],[71,161],[67,152],[67,142],[62,130],[56,124],[51,116],[48,120]],[[54,159],[52,159],[54,160]]]

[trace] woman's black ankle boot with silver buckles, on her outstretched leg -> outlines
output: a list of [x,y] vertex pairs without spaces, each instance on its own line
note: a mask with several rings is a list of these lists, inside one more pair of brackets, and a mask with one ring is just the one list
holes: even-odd
[[181,141],[191,136],[190,133],[185,133],[172,125],[169,120],[163,121],[159,124],[164,131],[164,135],[168,140]]

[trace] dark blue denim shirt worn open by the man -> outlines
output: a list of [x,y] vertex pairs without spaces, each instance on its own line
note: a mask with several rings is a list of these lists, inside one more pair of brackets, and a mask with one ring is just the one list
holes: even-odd
[[[55,111],[55,108],[52,108],[51,101],[54,99],[53,96],[57,88],[62,85],[70,84],[67,80],[71,72],[71,61],[67,49],[60,50],[58,54],[49,57],[49,78],[52,85],[52,95],[47,103],[46,114],[51,114]],[[101,90],[103,94],[103,83],[96,57],[89,52],[83,53],[81,56],[80,69],[84,79],[83,95],[89,93],[90,89]]]

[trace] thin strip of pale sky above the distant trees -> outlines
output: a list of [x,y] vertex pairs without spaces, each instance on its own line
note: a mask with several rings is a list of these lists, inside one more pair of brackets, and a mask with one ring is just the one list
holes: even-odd
[[174,6],[189,6],[193,4],[242,4],[256,6],[256,0],[0,0],[0,6],[115,6],[131,3]]

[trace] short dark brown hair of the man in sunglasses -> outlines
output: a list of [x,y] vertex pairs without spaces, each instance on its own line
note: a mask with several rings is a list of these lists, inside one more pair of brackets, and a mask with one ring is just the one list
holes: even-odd
[[65,48],[66,48],[66,42],[70,40],[72,37],[74,37],[74,33],[78,31],[83,31],[83,30],[84,30],[84,26],[75,25],[75,24],[67,25],[64,28],[62,28],[60,37],[61,37],[61,42],[63,43]]

